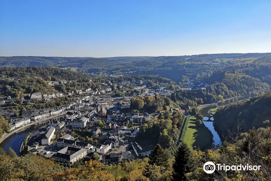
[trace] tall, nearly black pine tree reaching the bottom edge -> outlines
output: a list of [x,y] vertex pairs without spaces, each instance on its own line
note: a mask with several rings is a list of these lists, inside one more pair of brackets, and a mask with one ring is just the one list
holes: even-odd
[[186,143],[182,142],[179,145],[172,167],[172,181],[185,181],[185,174],[192,171],[191,151]]

